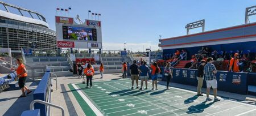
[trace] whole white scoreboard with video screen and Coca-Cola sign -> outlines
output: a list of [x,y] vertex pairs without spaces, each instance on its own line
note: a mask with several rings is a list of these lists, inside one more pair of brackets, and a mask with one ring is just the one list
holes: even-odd
[[55,16],[57,48],[102,49],[101,22],[85,20],[79,24],[73,18]]

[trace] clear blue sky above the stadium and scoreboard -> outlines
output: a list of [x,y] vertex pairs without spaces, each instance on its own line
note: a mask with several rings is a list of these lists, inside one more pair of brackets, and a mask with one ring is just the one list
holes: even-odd
[[[4,0],[43,14],[50,28],[55,30],[56,8],[71,7],[71,16],[88,18],[88,10],[102,16],[102,40],[107,49],[142,51],[151,46],[158,49],[158,35],[162,38],[185,35],[185,24],[205,19],[205,31],[240,25],[245,20],[245,8],[256,0]],[[255,16],[251,22],[255,22]],[[200,29],[192,31],[199,32]]]

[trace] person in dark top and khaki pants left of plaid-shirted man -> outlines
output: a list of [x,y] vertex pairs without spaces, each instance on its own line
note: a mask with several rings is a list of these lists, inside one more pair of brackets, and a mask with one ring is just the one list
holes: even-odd
[[197,96],[203,96],[203,93],[201,93],[201,89],[203,86],[203,80],[204,80],[204,65],[205,61],[202,60],[200,62],[199,67],[197,68]]

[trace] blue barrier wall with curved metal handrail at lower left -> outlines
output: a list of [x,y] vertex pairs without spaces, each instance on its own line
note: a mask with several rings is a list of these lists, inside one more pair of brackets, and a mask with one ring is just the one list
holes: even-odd
[[[56,84],[57,84],[57,79],[56,79]],[[40,83],[38,84],[38,87],[33,93],[34,101],[32,101],[30,104],[30,110],[23,111],[22,115],[47,116],[50,114],[50,106],[61,109],[62,115],[64,115],[64,109],[61,106],[51,104],[51,92],[52,92],[51,87],[52,87],[51,72],[50,72],[50,69],[47,68],[42,80],[40,81]],[[38,114],[39,112],[40,114]]]

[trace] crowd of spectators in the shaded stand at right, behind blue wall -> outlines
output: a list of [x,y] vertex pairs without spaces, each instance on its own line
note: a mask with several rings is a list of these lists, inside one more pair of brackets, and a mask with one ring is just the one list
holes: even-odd
[[[171,62],[172,66],[177,65],[177,61],[185,60],[183,58],[184,49],[176,50],[174,55],[164,55],[166,61],[163,63]],[[256,57],[255,53],[249,51],[237,50],[233,51],[217,51],[211,50],[208,47],[202,47],[197,54],[191,55],[191,60],[184,68],[196,69],[200,66],[201,60],[206,61],[208,57],[213,58],[213,64],[217,70],[233,71],[233,72],[256,72]]]

